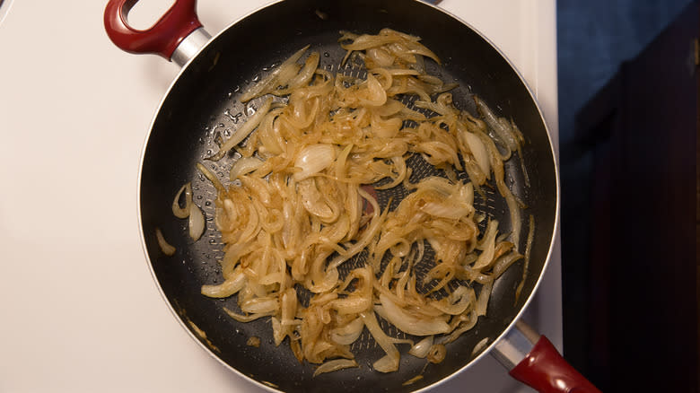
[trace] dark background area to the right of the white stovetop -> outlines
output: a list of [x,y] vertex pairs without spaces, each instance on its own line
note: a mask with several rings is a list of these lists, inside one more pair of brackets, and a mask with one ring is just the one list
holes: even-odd
[[603,391],[698,391],[698,21],[557,2],[564,355]]

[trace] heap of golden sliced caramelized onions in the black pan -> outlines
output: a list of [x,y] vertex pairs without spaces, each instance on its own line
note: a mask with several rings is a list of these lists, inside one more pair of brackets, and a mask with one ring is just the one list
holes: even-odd
[[[524,138],[477,97],[480,117],[459,109],[449,92],[455,85],[426,73],[426,61],[439,59],[419,38],[383,29],[342,32],[339,41],[346,60],[364,62],[366,77],[329,72],[319,52],[302,60],[309,47],[302,48],[241,97],[260,108],[211,157],[232,149],[243,156],[227,184],[197,163],[214,184],[224,244],[223,282],[201,292],[235,295],[240,311],[223,310],[237,321],[269,317],[275,345],[288,343],[300,362],[320,364],[314,376],[357,367],[351,345],[365,327],[385,352],[375,371],[398,370],[400,344],[442,362],[444,345],[486,315],[494,280],[522,258],[521,205],[503,162],[521,159]],[[416,182],[411,157],[444,176],[419,174]],[[499,229],[507,220],[493,219],[480,232],[486,215],[475,210],[474,191],[489,203],[486,188],[505,200],[510,233]],[[381,199],[390,195],[383,190],[402,197]],[[198,239],[206,225],[190,188],[179,190],[172,210],[189,216]],[[341,266],[353,267],[342,274]],[[388,336],[376,315],[425,338],[414,345]]]

